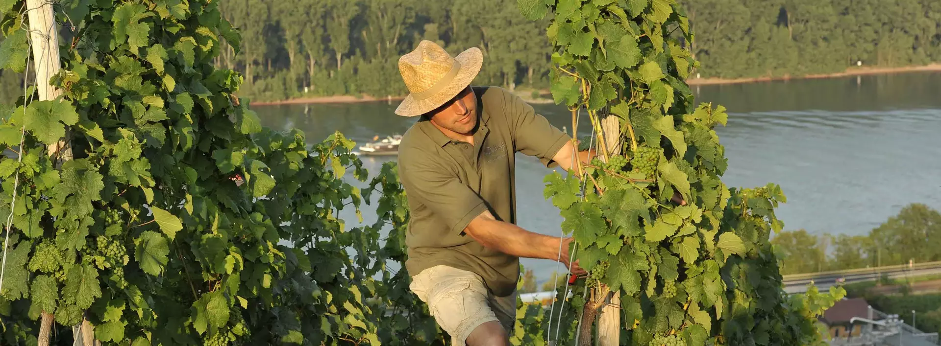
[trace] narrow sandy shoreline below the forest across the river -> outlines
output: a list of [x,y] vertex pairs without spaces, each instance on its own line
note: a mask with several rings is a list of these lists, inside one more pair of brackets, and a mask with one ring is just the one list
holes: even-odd
[[[894,73],[903,73],[903,72],[918,72],[918,71],[941,71],[941,63],[923,65],[923,66],[908,66],[901,68],[850,68],[846,71],[835,72],[835,73],[821,73],[821,74],[807,74],[799,77],[791,77],[788,75],[781,77],[753,77],[753,78],[692,78],[687,79],[686,84],[689,86],[720,86],[720,85],[732,85],[732,84],[749,84],[749,83],[762,83],[762,82],[774,82],[774,81],[789,81],[789,80],[801,80],[801,79],[823,79],[823,78],[840,78],[840,77],[852,77],[859,75],[871,75],[871,74],[894,74]],[[549,90],[541,90],[543,94],[549,93]],[[530,103],[554,103],[551,98],[547,99],[538,99],[532,100],[529,98],[529,95],[520,95],[523,97],[523,100]],[[361,97],[353,95],[334,95],[334,96],[311,96],[311,97],[302,97],[282,101],[269,101],[269,102],[251,102],[251,105],[282,105],[282,104],[310,104],[310,103],[359,103],[359,102],[400,102],[405,100],[405,97],[385,97],[385,98],[375,98],[369,95],[362,95]]]

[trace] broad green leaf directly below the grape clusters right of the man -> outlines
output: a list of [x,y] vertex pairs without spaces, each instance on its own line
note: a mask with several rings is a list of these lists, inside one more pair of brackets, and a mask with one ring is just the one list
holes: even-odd
[[601,197],[601,203],[605,217],[611,220],[620,234],[629,237],[639,235],[643,230],[640,219],[650,220],[646,198],[637,189],[608,190]]

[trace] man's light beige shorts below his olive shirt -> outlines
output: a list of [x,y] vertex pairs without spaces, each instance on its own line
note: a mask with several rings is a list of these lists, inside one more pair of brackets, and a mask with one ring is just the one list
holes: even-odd
[[429,312],[455,346],[464,346],[470,332],[485,322],[500,322],[508,335],[513,333],[517,293],[494,296],[486,290],[480,275],[438,265],[412,276],[409,288],[428,305]]

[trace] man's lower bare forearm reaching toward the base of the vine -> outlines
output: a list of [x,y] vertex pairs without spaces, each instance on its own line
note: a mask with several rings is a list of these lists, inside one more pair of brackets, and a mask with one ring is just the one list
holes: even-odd
[[[568,244],[572,238],[558,238],[519,228],[508,222],[497,220],[490,212],[483,212],[473,220],[464,231],[477,243],[504,254],[528,259],[560,260],[569,267]],[[562,242],[562,252],[559,243]],[[578,265],[571,264],[571,272],[583,275],[586,272]]]

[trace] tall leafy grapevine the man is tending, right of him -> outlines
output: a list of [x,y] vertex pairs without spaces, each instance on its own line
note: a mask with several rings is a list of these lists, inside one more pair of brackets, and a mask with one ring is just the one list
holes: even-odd
[[[774,208],[786,199],[774,184],[721,181],[726,158],[713,128],[727,116],[692,104],[684,80],[698,62],[685,48],[693,35],[682,9],[670,0],[518,4],[531,19],[551,12],[552,96],[573,118],[585,108],[598,134],[600,159],[576,170],[583,174],[546,178],[546,197],[591,273],[575,291],[593,294],[573,298],[570,313],[593,316],[612,291],[630,345],[824,344],[816,318],[844,291],[782,291],[769,237],[783,228]],[[606,116],[617,117],[618,132],[602,131]],[[594,192],[578,197],[582,183]]]

